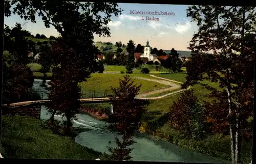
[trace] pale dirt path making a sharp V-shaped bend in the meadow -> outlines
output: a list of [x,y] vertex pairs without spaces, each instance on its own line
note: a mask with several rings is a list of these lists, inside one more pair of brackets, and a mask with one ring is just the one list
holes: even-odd
[[[154,77],[154,76],[153,76]],[[157,76],[155,76],[157,77]],[[150,96],[150,95],[153,95],[153,94],[157,94],[157,93],[161,93],[161,92],[166,92],[166,91],[172,91],[172,90],[177,90],[179,88],[181,88],[180,85],[177,85],[177,84],[174,84],[174,83],[171,83],[170,81],[166,80],[166,79],[151,79],[151,78],[144,78],[144,77],[136,77],[137,79],[143,79],[143,80],[148,80],[148,81],[154,81],[154,82],[157,82],[157,83],[160,83],[160,84],[164,84],[164,85],[167,85],[167,86],[170,86],[168,88],[164,88],[164,89],[159,89],[159,90],[155,90],[155,91],[151,91],[151,92],[147,92],[147,93],[142,93],[142,94],[139,94],[137,96],[137,98],[143,98],[143,99],[152,99],[152,98],[162,98],[164,97],[165,95],[163,96],[158,96],[158,97],[148,97],[148,98],[144,98],[146,96]],[[180,91],[177,91],[177,92],[180,92]],[[169,93],[170,94],[170,93]],[[168,94],[167,94],[168,95]]]

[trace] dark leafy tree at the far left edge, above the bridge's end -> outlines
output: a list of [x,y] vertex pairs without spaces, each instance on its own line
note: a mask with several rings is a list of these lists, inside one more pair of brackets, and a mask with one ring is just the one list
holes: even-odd
[[5,26],[4,39],[4,76],[3,101],[12,103],[28,100],[34,78],[33,73],[26,65],[29,62],[28,52],[31,42],[25,38],[26,33],[21,25],[16,23],[11,30]]

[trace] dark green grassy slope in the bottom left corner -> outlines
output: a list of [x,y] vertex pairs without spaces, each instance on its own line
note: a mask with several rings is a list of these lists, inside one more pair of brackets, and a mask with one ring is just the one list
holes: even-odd
[[68,137],[53,134],[42,124],[29,117],[2,116],[3,157],[94,160],[101,155]]

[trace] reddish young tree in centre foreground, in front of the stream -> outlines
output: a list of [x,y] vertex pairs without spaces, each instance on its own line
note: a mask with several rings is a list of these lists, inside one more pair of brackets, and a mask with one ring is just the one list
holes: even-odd
[[114,95],[111,99],[113,100],[114,114],[110,116],[110,127],[122,135],[122,141],[116,137],[117,148],[109,148],[111,160],[129,160],[132,158],[129,155],[132,151],[129,146],[135,143],[132,139],[133,135],[138,130],[141,118],[146,112],[145,103],[135,99],[140,87],[141,85],[136,86],[134,84],[129,75],[125,75],[124,79],[119,80],[119,87],[117,89],[112,88]]

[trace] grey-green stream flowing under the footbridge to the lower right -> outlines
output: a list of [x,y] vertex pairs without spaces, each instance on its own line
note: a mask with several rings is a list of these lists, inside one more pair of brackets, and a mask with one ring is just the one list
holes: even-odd
[[[35,79],[33,88],[46,91],[40,84],[41,80]],[[46,96],[44,98],[47,98],[47,95],[44,96]],[[42,106],[41,120],[46,120],[49,117],[46,107]],[[61,117],[55,115],[55,119],[61,120]],[[106,129],[106,125],[106,122],[96,120],[89,115],[77,114],[77,120],[74,120],[73,126],[78,127],[80,132],[76,136],[75,142],[96,151],[107,153],[107,147],[116,146],[114,143],[116,135]],[[134,161],[227,163],[225,160],[188,151],[167,141],[152,139],[150,136],[143,134],[136,134],[134,140],[136,144],[132,145],[133,150],[131,152],[132,160]]]

